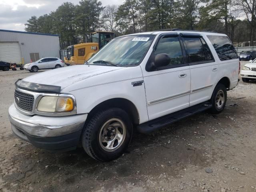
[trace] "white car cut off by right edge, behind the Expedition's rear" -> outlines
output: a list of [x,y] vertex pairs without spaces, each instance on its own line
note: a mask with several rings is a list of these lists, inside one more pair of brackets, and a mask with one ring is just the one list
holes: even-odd
[[256,59],[250,60],[249,63],[244,65],[241,71],[241,77],[243,82],[256,79]]

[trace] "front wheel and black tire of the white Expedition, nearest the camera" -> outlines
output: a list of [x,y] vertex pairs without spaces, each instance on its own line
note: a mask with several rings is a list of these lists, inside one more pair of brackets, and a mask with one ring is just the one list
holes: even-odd
[[110,108],[94,114],[84,126],[82,146],[99,161],[120,157],[132,138],[132,121],[124,110]]

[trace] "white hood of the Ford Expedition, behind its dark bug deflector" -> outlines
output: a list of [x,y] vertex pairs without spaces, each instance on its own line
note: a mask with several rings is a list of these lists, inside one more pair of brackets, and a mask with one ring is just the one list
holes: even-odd
[[120,70],[122,68],[123,67],[114,66],[75,65],[48,70],[46,72],[40,72],[38,74],[24,78],[23,80],[26,82],[33,82],[38,84],[60,86],[61,89],[63,89],[82,80],[109,73],[115,70]]

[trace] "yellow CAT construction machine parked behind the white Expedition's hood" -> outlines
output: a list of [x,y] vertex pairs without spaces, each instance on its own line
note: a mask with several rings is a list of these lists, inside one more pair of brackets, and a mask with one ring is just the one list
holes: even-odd
[[67,57],[64,62],[67,65],[84,64],[91,58],[100,48],[106,45],[114,38],[114,32],[96,31],[90,33],[90,43],[80,43],[68,46]]

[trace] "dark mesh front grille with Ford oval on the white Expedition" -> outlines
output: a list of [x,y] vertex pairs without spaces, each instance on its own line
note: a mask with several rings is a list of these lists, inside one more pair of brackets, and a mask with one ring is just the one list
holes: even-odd
[[15,90],[15,103],[22,110],[32,112],[34,106],[34,96]]

